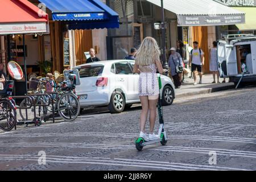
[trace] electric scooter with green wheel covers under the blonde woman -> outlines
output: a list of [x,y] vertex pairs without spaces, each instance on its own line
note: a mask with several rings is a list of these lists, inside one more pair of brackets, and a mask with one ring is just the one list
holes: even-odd
[[[160,89],[162,88],[162,82],[161,82],[159,73],[158,73],[158,82],[159,82],[159,91],[160,91]],[[137,140],[135,140],[135,146],[138,151],[141,151],[144,146],[147,146],[152,143],[160,142],[163,146],[165,146],[167,143],[167,134],[166,134],[166,131],[164,131],[163,107],[162,107],[160,98],[161,97],[159,92],[159,98],[158,98],[158,116],[159,116],[159,123],[160,123],[159,130],[158,130],[159,138],[151,141],[146,141],[144,140],[144,138],[141,138],[141,137],[137,138]]]

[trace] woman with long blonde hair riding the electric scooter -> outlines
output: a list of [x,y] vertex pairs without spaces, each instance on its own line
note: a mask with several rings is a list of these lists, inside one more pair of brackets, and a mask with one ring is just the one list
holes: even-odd
[[[151,37],[144,38],[139,47],[133,68],[134,73],[139,73],[139,99],[141,100],[141,133],[139,137],[145,140],[154,140],[159,138],[154,134],[156,105],[159,98],[159,83],[156,70],[159,73],[164,73],[167,70],[163,69],[159,60],[160,49],[156,40]],[[147,114],[150,112],[150,133],[146,134],[145,126]]]

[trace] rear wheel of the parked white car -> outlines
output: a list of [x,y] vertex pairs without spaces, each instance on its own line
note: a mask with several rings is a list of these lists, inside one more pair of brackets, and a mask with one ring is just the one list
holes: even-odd
[[123,94],[119,91],[112,93],[108,107],[110,113],[121,113],[125,109],[125,98]]

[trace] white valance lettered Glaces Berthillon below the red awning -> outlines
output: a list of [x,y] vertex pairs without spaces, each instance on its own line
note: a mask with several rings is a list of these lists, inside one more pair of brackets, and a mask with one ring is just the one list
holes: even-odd
[[1,23],[0,35],[46,32],[46,23]]

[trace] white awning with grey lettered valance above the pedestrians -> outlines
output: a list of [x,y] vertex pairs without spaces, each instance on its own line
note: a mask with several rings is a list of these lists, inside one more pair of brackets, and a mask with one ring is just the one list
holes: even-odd
[[[147,0],[161,6],[161,0]],[[245,13],[212,0],[163,0],[164,9],[177,15],[178,26],[220,26],[245,23]]]

